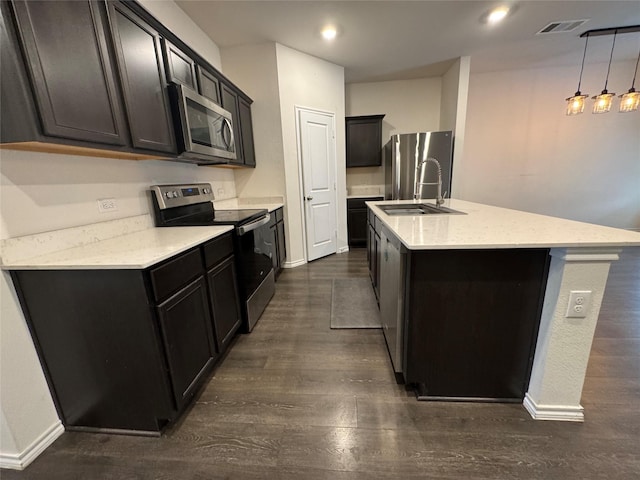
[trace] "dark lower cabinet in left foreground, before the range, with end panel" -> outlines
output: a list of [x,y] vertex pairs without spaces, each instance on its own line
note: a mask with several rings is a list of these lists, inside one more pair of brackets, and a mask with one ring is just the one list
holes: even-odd
[[144,270],[11,276],[68,430],[159,435],[240,325],[231,233]]

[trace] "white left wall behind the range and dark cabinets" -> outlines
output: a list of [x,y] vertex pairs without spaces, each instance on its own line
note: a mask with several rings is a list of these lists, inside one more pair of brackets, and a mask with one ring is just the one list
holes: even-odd
[[[141,3],[220,68],[217,45],[175,3]],[[165,161],[2,150],[0,175],[0,238],[148,213],[145,190],[153,183],[209,181],[217,197],[235,196],[232,171]],[[116,199],[117,212],[98,213],[96,200],[105,197]],[[4,273],[0,302],[0,463],[20,463],[59,420],[13,285]]]

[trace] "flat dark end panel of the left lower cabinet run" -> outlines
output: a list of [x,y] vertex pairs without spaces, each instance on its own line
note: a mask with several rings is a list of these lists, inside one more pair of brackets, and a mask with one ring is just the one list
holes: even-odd
[[143,272],[12,278],[65,428],[158,434],[176,410]]

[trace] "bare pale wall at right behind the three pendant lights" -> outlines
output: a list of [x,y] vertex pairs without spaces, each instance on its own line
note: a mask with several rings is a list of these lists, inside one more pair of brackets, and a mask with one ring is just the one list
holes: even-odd
[[[634,64],[611,67],[629,88]],[[640,112],[565,115],[579,70],[472,74],[457,197],[619,228],[640,228]],[[587,65],[582,90],[602,89],[606,65]],[[592,101],[589,101],[591,107]]]

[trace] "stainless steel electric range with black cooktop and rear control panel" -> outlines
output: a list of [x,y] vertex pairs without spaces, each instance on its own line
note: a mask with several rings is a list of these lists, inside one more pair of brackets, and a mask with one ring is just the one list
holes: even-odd
[[233,225],[243,330],[250,332],[275,293],[271,252],[261,238],[268,235],[265,209],[216,210],[208,183],[154,185],[151,197],[157,227]]

